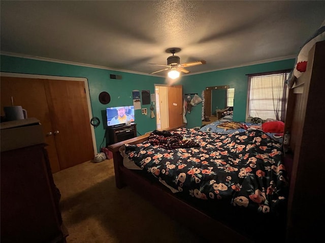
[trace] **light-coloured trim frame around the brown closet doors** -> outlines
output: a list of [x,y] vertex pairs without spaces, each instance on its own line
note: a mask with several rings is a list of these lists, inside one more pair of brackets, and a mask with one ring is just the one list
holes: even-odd
[[[72,81],[84,82],[85,89],[86,89],[85,92],[86,92],[86,98],[87,98],[87,107],[88,107],[89,120],[92,118],[88,79],[85,78],[85,77],[62,77],[62,76],[51,76],[51,75],[40,75],[40,74],[25,74],[25,73],[13,73],[13,72],[0,72],[0,75],[3,76],[3,77],[72,80]],[[89,126],[90,126],[90,123],[89,123]],[[91,130],[91,137],[92,137],[93,152],[94,152],[94,154],[96,154],[97,153],[97,146],[96,146],[96,139],[95,139],[95,130],[94,130],[94,128],[92,126],[90,126],[90,130]]]

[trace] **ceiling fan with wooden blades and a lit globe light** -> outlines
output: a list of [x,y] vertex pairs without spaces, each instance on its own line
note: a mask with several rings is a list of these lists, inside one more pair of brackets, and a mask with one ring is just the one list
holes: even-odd
[[167,65],[163,64],[156,64],[156,63],[149,63],[151,65],[158,65],[158,66],[164,66],[166,68],[151,72],[150,74],[154,74],[157,72],[169,70],[168,76],[171,78],[177,78],[179,77],[180,72],[184,73],[189,73],[190,71],[185,69],[184,67],[191,67],[191,66],[196,66],[196,65],[201,65],[201,64],[206,64],[207,62],[205,60],[199,60],[199,61],[194,61],[194,62],[186,62],[186,63],[180,63],[180,58],[179,56],[175,56],[174,54],[177,52],[180,52],[180,48],[169,48],[166,50],[167,53],[172,53],[173,56],[170,56],[167,58]]

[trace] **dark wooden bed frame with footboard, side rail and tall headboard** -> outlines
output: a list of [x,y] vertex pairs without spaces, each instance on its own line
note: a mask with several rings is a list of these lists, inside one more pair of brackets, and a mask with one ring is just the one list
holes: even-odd
[[[317,235],[322,237],[324,229],[325,203],[322,193],[325,192],[325,158],[322,153],[325,150],[325,134],[322,116],[325,114],[325,105],[321,104],[325,94],[324,57],[325,41],[318,42],[309,52],[306,72],[289,91],[285,131],[289,133],[290,140],[289,145],[285,147],[287,152],[284,159],[292,163],[292,170],[287,215],[285,222],[282,222],[285,225],[285,242],[308,242]],[[201,233],[205,237],[209,234],[204,233],[211,230],[210,232],[218,233],[219,242],[254,242],[249,235],[239,233],[177,198],[160,183],[153,183],[140,177],[135,171],[126,169],[119,153],[120,146],[124,143],[144,142],[148,136],[149,134],[108,146],[113,152],[116,186],[132,187],[156,207],[193,230],[198,231],[198,228],[193,228],[190,223],[193,219],[204,224],[206,228],[202,229]],[[161,201],[164,201],[164,204],[161,204]],[[211,237],[211,240],[216,240],[215,236]],[[277,242],[282,242],[281,238]]]

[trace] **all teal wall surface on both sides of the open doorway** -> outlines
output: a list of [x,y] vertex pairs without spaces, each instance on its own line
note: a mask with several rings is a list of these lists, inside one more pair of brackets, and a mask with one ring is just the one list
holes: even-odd
[[[198,93],[200,97],[202,96],[202,91],[209,86],[229,85],[230,88],[235,88],[234,120],[244,121],[247,99],[246,74],[291,69],[294,63],[295,59],[289,59],[195,75],[184,75],[174,84],[183,85],[183,93]],[[99,117],[101,120],[101,125],[95,128],[95,138],[98,149],[104,138],[106,107],[132,105],[133,90],[139,90],[140,94],[142,90],[149,90],[150,94],[152,94],[154,93],[154,84],[166,84],[165,78],[163,77],[5,55],[1,56],[1,71],[87,78],[92,116]],[[110,79],[110,74],[122,75],[122,79]],[[108,92],[111,96],[111,102],[107,105],[101,104],[98,99],[99,94],[103,91]],[[141,110],[135,111],[138,135],[156,129],[156,121],[155,118],[150,118],[149,107],[150,105],[142,105],[142,108],[147,108],[149,111],[148,115],[142,115]],[[202,104],[193,107],[191,113],[186,114],[187,127],[192,128],[201,126],[201,114]]]

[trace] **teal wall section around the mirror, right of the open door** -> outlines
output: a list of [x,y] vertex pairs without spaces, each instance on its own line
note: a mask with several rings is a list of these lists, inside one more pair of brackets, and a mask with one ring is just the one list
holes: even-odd
[[[294,65],[295,59],[287,59],[282,61],[211,71],[183,76],[178,84],[183,85],[183,93],[198,93],[200,97],[202,95],[202,91],[206,87],[229,85],[229,88],[235,88],[234,120],[245,121],[248,87],[248,78],[246,74],[292,69]],[[186,119],[188,128],[201,126],[202,105],[200,104],[196,107],[192,107],[191,113],[186,114]]]

